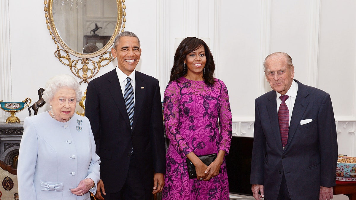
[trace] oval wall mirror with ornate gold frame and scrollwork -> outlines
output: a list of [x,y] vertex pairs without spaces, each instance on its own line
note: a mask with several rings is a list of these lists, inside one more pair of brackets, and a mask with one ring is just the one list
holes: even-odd
[[[125,0],[45,0],[44,4],[47,28],[57,44],[54,55],[82,79],[80,84],[89,83],[114,59],[108,50],[122,22],[124,31]],[[94,57],[99,58],[90,59]]]

